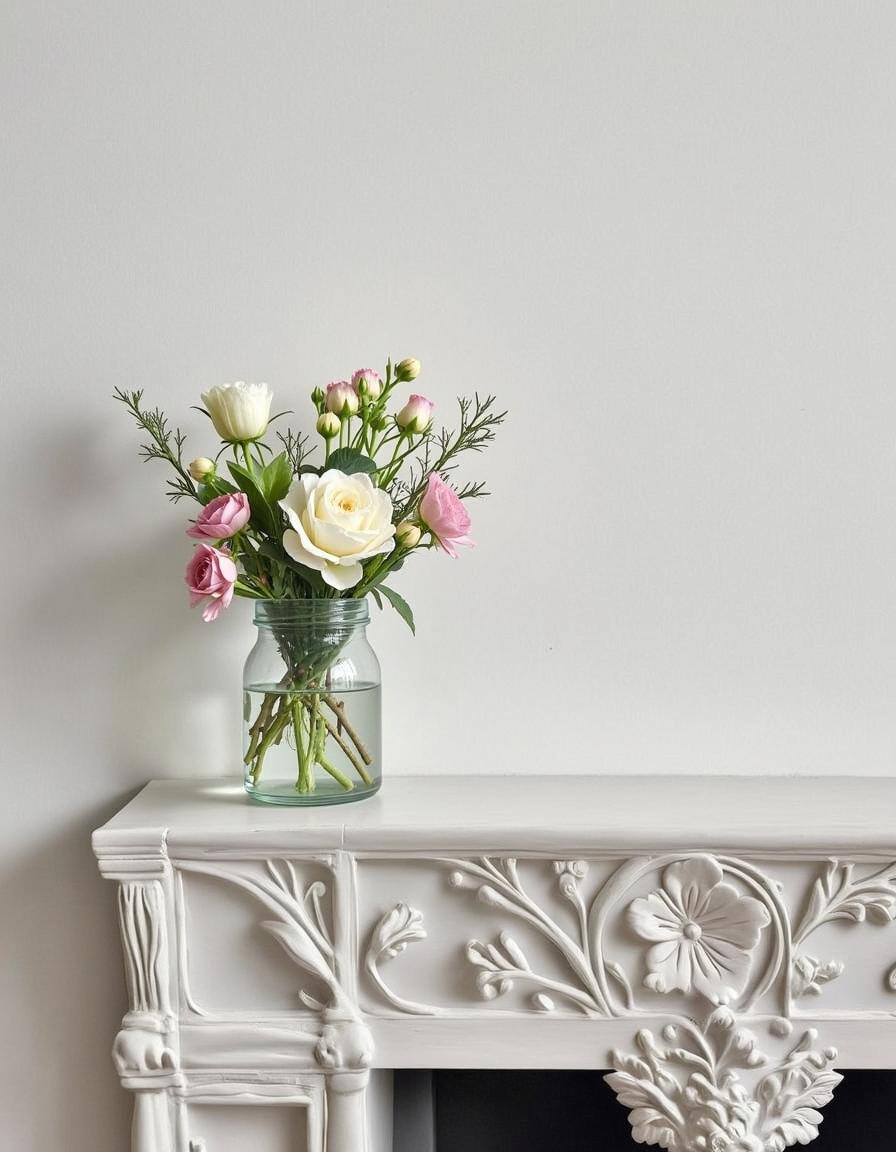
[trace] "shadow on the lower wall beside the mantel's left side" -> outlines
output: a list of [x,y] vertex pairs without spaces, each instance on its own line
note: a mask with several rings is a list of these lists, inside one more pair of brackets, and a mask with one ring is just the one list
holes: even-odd
[[135,791],[81,813],[3,870],[5,1017],[15,1051],[0,1130],[10,1150],[127,1145],[130,1099],[111,1058],[127,1010],[116,903],[98,878],[90,833]]

